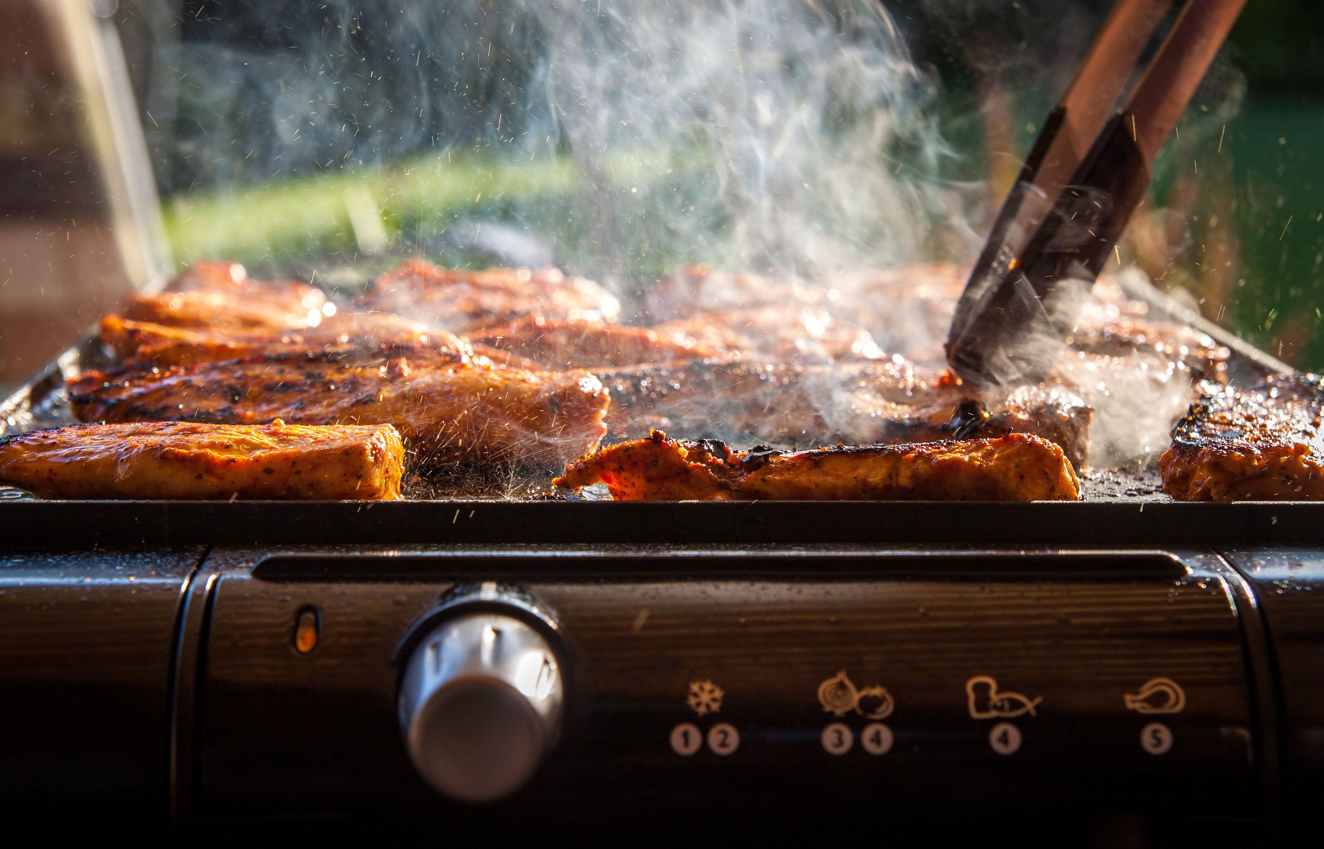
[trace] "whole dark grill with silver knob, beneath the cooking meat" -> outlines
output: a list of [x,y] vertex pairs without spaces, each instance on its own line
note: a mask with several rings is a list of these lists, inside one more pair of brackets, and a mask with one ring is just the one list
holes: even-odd
[[[9,423],[58,421],[94,351]],[[1235,343],[1234,380],[1275,366]],[[9,499],[0,793],[180,824],[1278,821],[1324,758],[1324,506],[1084,479],[1074,503]],[[429,760],[438,728],[462,732]]]

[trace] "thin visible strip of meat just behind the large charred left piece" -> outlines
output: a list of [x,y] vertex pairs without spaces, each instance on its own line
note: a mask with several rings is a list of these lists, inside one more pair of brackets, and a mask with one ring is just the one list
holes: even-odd
[[155,366],[218,363],[267,354],[377,351],[417,362],[449,363],[463,358],[483,362],[486,358],[510,368],[540,370],[536,363],[514,354],[474,346],[445,330],[428,330],[416,322],[380,313],[340,313],[320,327],[285,332],[168,327],[107,315],[101,319],[101,339],[122,360]]

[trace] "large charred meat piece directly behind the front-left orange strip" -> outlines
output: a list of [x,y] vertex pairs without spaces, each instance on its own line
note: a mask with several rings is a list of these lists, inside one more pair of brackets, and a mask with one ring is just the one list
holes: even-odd
[[392,424],[421,466],[555,466],[592,450],[608,393],[588,372],[422,364],[380,352],[277,354],[173,368],[87,372],[69,384],[82,421]]

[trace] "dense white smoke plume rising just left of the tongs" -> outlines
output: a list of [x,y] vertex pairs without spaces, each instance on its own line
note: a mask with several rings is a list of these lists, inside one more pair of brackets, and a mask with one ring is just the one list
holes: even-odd
[[[593,215],[583,268],[647,250],[822,281],[974,241],[931,82],[873,0],[557,0],[547,95]],[[626,188],[613,152],[657,179]]]

